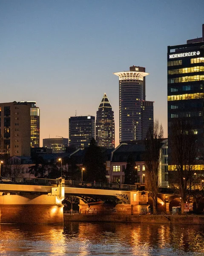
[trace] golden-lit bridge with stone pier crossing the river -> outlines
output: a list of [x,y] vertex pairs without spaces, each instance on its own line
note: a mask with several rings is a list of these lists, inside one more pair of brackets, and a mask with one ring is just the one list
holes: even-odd
[[[168,195],[172,190],[166,189]],[[0,184],[0,223],[63,223],[63,204],[66,195],[80,199],[81,212],[95,205],[98,211],[109,211],[112,205],[98,201],[113,199],[118,214],[148,212],[148,192],[144,186],[90,183],[64,179],[16,179]],[[160,197],[164,204],[167,195]],[[168,210],[168,207],[167,207]]]

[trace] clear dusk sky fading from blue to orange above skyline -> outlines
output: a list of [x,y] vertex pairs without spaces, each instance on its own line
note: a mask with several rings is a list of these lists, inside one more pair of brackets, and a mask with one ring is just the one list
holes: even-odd
[[203,0],[0,0],[0,102],[36,101],[43,138],[69,137],[69,117],[96,116],[106,93],[119,144],[115,72],[146,67],[167,137],[167,46],[199,38]]

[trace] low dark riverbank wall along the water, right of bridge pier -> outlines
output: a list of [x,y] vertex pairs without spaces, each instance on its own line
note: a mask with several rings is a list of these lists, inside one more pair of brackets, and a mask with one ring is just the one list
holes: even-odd
[[64,221],[135,222],[204,225],[204,216],[199,215],[84,215],[64,214]]

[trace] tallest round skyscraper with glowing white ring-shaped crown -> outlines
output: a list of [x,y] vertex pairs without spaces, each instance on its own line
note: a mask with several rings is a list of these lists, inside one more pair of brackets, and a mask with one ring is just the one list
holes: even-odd
[[120,142],[142,140],[147,131],[147,125],[144,125],[142,118],[149,118],[148,124],[153,124],[153,102],[145,103],[145,76],[149,73],[145,72],[145,67],[132,66],[129,71],[114,73],[114,75],[119,76]]

